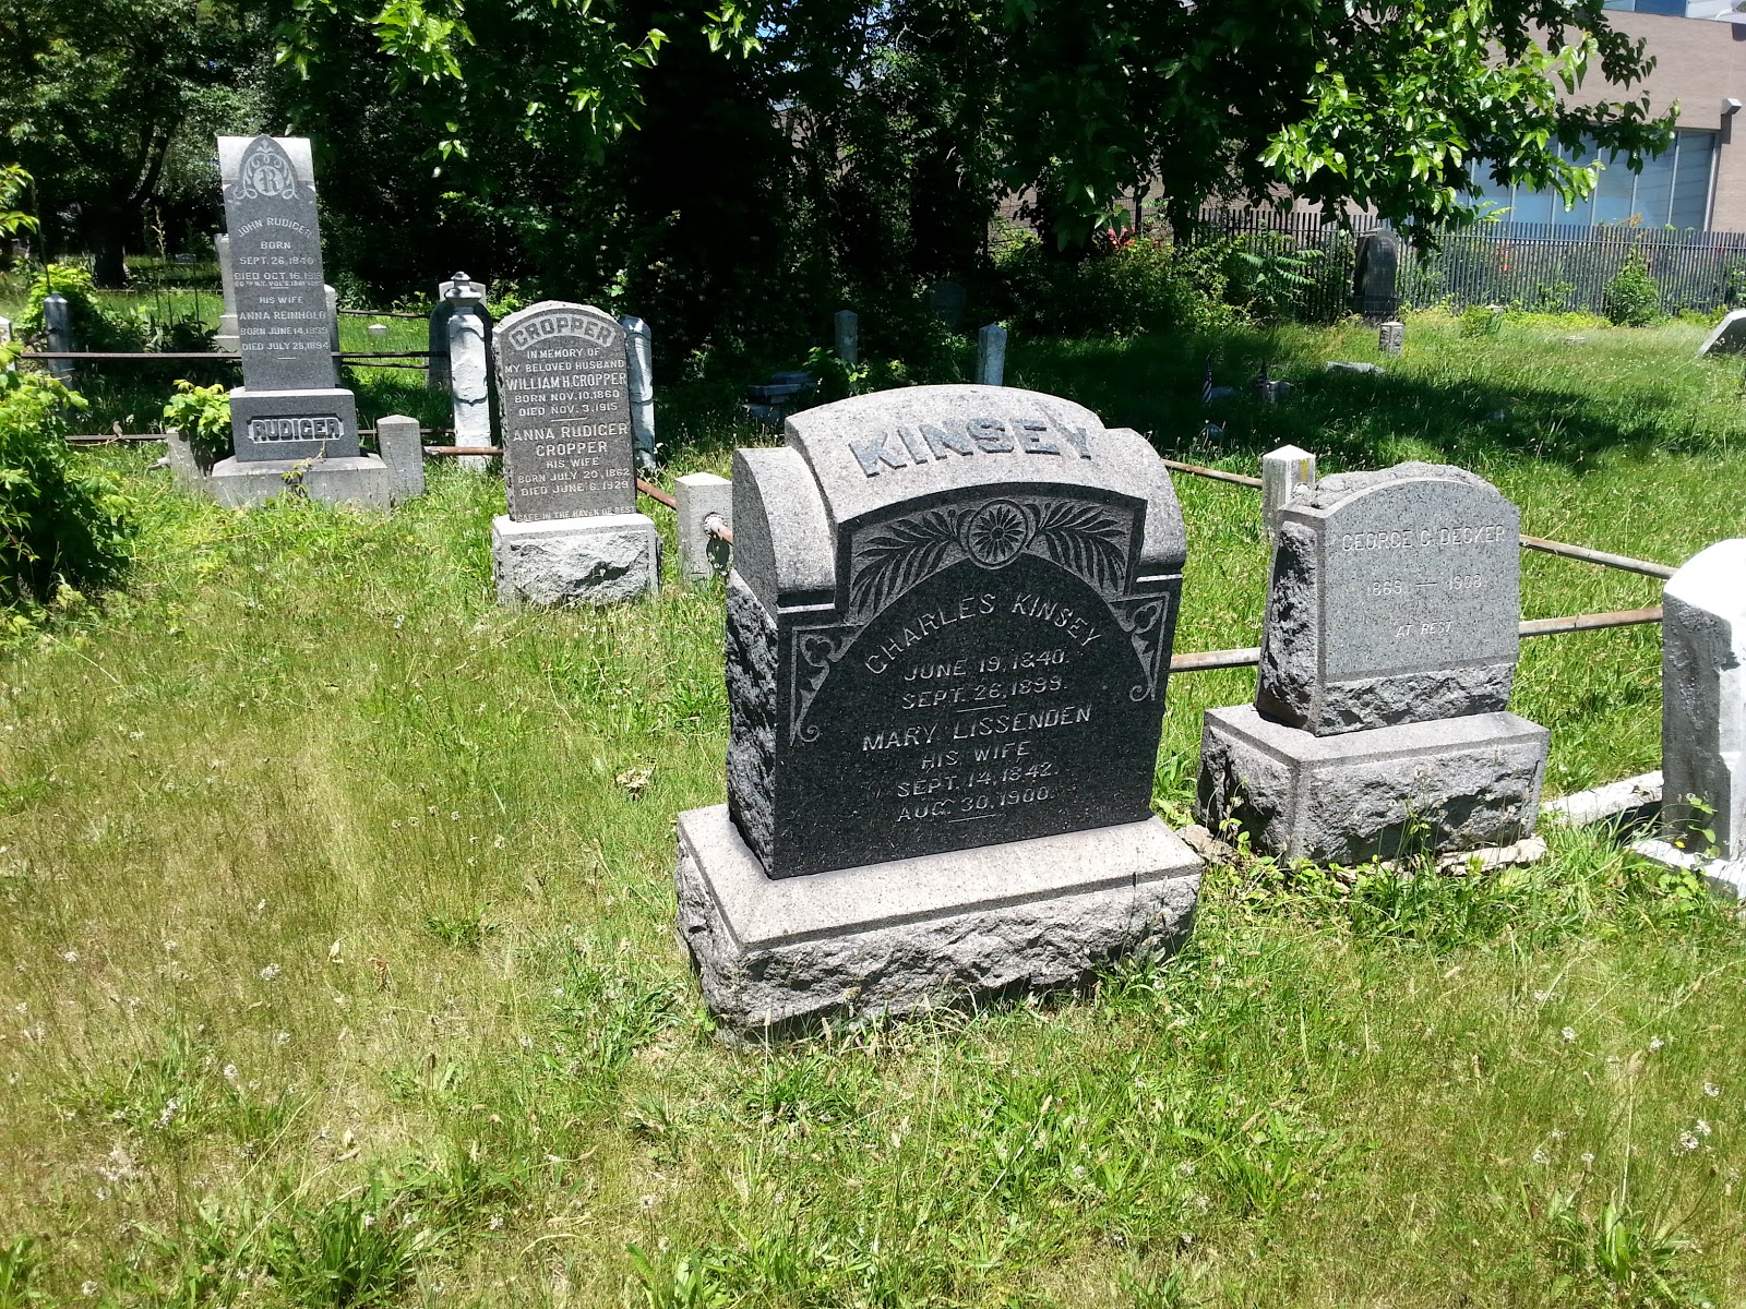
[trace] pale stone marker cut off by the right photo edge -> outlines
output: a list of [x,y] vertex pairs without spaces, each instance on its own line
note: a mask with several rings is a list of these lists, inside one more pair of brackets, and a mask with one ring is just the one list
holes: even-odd
[[1746,539],[1694,555],[1662,592],[1662,840],[1638,848],[1746,895]]

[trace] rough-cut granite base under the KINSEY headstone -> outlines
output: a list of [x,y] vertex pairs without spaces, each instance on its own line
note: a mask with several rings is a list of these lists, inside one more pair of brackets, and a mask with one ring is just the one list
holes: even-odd
[[1175,949],[1201,860],[1158,819],[770,878],[726,805],[679,815],[679,939],[739,1038],[1077,983]]

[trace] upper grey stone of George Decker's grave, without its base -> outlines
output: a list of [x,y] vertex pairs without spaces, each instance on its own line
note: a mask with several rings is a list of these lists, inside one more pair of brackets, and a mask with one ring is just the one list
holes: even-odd
[[1521,517],[1444,464],[1323,478],[1280,510],[1255,707],[1316,737],[1509,707]]

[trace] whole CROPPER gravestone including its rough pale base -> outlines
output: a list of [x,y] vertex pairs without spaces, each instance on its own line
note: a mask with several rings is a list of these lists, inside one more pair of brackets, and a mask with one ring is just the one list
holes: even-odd
[[636,511],[625,330],[543,300],[494,335],[510,511],[491,525],[498,600],[606,604],[660,586],[655,524]]

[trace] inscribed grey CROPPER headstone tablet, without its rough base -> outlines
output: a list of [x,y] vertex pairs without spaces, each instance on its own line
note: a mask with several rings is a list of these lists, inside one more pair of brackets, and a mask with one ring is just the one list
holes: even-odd
[[543,300],[492,333],[510,518],[634,513],[625,330],[590,305]]

